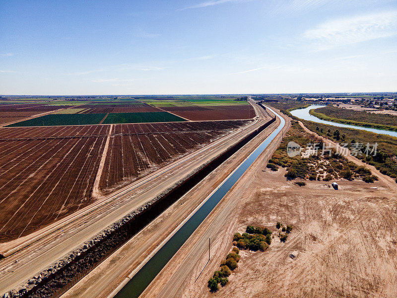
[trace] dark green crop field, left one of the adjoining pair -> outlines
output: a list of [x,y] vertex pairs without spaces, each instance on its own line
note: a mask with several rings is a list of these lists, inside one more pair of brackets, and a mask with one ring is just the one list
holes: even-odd
[[62,126],[62,125],[90,125],[99,124],[106,114],[50,114],[33,118],[7,127],[19,126]]

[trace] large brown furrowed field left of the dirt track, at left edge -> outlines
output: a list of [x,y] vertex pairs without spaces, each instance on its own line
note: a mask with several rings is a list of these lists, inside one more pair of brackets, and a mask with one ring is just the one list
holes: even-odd
[[0,241],[91,203],[105,142],[105,137],[0,141]]

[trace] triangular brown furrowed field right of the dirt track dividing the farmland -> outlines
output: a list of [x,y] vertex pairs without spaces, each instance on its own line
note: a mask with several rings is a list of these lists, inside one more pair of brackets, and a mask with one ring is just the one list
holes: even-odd
[[116,125],[100,188],[112,189],[203,147],[249,121]]

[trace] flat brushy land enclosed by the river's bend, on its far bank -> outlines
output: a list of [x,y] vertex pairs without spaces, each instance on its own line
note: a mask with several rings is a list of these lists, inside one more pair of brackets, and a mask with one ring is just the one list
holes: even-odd
[[397,131],[397,116],[342,109],[332,105],[310,110],[310,114],[327,121]]

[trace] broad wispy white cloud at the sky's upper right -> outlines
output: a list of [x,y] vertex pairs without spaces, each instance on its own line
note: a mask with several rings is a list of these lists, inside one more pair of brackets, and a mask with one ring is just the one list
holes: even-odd
[[327,21],[304,32],[318,50],[397,34],[397,11],[386,11]]

